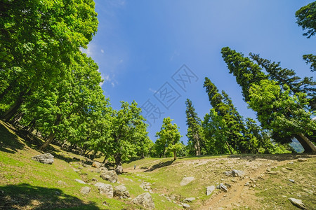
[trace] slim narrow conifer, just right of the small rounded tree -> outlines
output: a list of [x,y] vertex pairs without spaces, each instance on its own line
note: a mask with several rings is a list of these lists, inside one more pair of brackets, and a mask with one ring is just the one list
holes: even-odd
[[187,138],[188,145],[194,146],[195,155],[201,155],[201,147],[203,146],[202,132],[201,132],[201,119],[195,112],[195,107],[192,105],[192,101],[187,99],[185,101],[187,115]]

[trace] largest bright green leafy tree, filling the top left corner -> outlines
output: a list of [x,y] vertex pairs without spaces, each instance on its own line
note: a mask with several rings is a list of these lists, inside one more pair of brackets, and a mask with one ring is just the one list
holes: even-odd
[[79,0],[1,1],[0,74],[6,83],[0,99],[15,92],[3,106],[2,119],[10,120],[32,92],[49,90],[70,73],[79,48],[86,48],[96,33],[94,5]]

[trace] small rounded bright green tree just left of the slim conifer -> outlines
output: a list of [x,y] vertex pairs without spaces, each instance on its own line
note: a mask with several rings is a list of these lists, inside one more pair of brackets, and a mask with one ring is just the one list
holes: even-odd
[[177,159],[177,151],[179,151],[182,146],[180,144],[180,132],[178,131],[178,125],[174,123],[172,125],[173,120],[168,118],[164,118],[162,121],[162,128],[159,132],[156,133],[156,137],[158,137],[155,144],[156,148],[159,148],[159,152],[166,158],[166,152],[170,151],[173,153],[173,160]]

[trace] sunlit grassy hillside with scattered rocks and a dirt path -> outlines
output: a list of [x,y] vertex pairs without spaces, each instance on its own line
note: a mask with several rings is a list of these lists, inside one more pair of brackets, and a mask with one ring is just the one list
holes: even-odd
[[[83,157],[58,146],[48,151],[55,156],[53,165],[35,162],[31,158],[40,154],[35,146],[40,140],[25,138],[0,121],[0,209],[140,209],[131,199],[100,195],[93,185],[82,195],[80,189],[88,185],[75,179],[108,183],[98,169],[82,165]],[[315,155],[222,155],[174,162],[136,158],[123,165],[125,173],[111,184],[124,184],[132,199],[150,192],[156,209],[183,209],[187,197],[195,198],[187,202],[190,209],[298,209],[289,197],[316,209],[315,163]],[[242,170],[244,177],[225,176],[232,169]],[[181,186],[188,177],[194,180]],[[228,192],[216,189],[206,196],[206,187],[219,183],[228,186]]]

